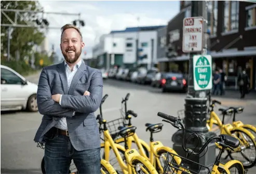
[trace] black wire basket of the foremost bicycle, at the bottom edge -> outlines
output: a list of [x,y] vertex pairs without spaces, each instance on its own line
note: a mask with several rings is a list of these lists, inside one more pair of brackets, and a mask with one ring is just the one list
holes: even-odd
[[[168,156],[164,165],[164,173],[177,173],[178,171],[181,171],[182,174],[199,174],[201,170],[206,170],[207,174],[211,173],[208,167],[196,163],[192,160],[188,160],[185,157],[170,152],[167,152],[167,155]],[[171,156],[171,160],[169,159],[169,156]],[[177,164],[174,160],[174,157],[180,157],[181,163]],[[190,166],[197,166],[198,169],[191,169]]]

